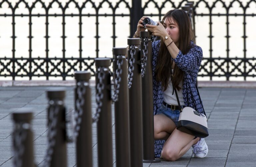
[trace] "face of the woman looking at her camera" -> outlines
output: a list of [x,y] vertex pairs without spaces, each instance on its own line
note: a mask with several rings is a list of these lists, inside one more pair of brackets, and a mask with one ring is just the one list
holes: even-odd
[[179,26],[177,22],[172,17],[167,17],[164,20],[164,28],[173,40],[173,42],[178,46],[179,45],[179,38],[180,38],[180,32],[179,32]]

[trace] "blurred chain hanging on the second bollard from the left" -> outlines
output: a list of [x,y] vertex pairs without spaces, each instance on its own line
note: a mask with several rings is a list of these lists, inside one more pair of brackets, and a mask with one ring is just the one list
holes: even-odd
[[48,128],[48,147],[46,151],[45,161],[44,161],[44,167],[49,167],[51,160],[52,160],[52,154],[53,154],[53,147],[56,144],[55,137],[57,134],[57,121],[58,121],[58,112],[59,112],[59,105],[62,105],[63,101],[49,101],[49,128]]

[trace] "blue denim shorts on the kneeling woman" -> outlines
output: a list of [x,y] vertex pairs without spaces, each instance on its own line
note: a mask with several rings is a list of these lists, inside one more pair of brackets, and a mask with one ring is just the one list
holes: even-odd
[[176,124],[178,124],[179,121],[179,117],[180,117],[180,111],[177,110],[172,110],[171,108],[167,107],[164,104],[161,105],[161,107],[159,108],[159,111],[156,114],[164,114],[167,117],[171,118],[171,120]]

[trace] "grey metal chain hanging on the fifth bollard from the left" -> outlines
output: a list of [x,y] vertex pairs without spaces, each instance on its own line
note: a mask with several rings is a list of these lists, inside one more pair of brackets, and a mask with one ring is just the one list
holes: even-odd
[[121,82],[121,75],[122,75],[122,69],[121,66],[123,65],[123,59],[122,55],[117,55],[117,66],[116,69],[116,78],[114,82],[114,93],[112,95],[112,100],[116,102],[118,100],[118,94],[119,94],[119,88],[120,88],[120,82]]

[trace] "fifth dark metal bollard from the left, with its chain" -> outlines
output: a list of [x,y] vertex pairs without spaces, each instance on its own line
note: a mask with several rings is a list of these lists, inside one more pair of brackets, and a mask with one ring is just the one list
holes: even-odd
[[127,48],[113,48],[116,166],[130,167],[129,101],[127,82]]

